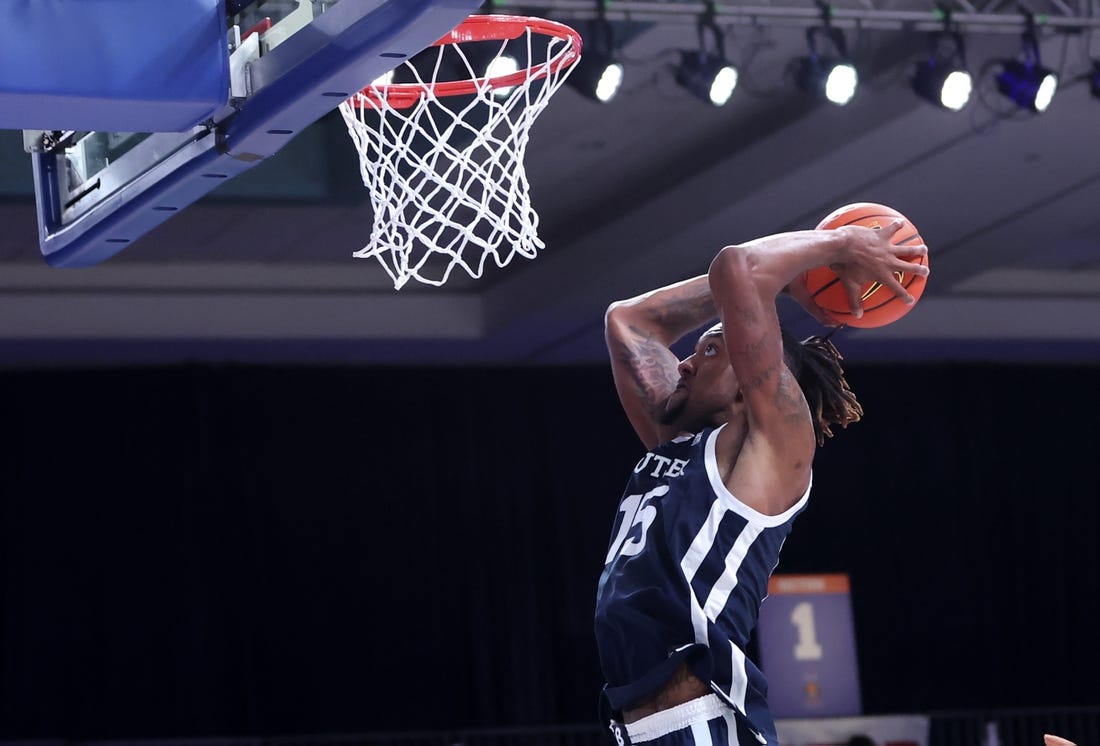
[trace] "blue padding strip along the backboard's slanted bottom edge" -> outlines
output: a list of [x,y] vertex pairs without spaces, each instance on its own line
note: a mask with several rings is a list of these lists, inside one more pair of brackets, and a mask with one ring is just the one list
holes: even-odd
[[[110,259],[226,179],[277,152],[481,4],[482,0],[341,0],[253,65],[256,92],[216,132],[182,149],[175,143],[183,135],[152,135],[157,150],[172,155],[72,223],[63,224],[59,218],[57,179],[52,173],[56,158],[32,154],[43,257],[58,267]],[[348,167],[358,171],[358,161]]]

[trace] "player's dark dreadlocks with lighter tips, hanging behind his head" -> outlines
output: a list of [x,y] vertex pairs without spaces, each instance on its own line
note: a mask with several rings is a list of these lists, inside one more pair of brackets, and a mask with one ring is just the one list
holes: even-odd
[[833,437],[834,425],[846,428],[859,421],[864,407],[844,377],[839,351],[827,337],[807,337],[800,342],[783,330],[783,352],[810,405],[818,446]]

